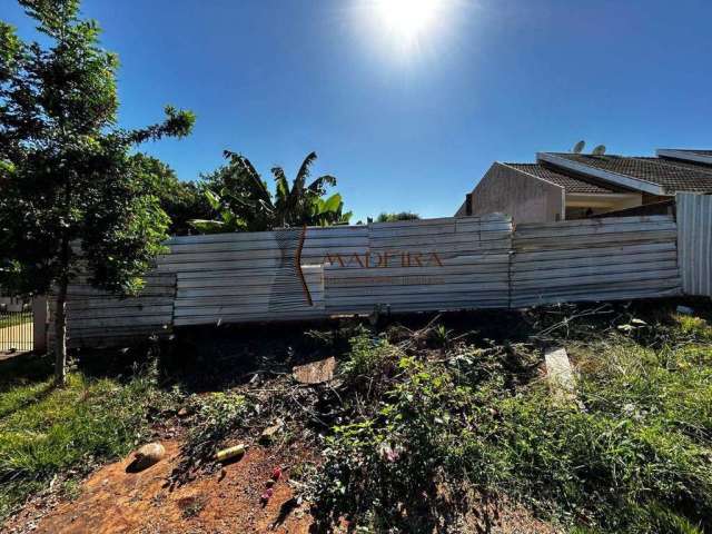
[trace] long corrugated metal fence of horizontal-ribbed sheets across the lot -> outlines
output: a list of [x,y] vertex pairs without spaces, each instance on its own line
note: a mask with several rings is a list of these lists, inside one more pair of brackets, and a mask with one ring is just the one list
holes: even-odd
[[176,237],[125,300],[78,280],[69,346],[172,326],[510,308],[681,293],[670,216],[520,225],[503,215]]

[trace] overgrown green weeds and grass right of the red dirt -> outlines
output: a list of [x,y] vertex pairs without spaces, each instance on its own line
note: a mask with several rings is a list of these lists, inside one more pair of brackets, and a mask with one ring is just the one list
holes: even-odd
[[[327,438],[317,520],[431,532],[484,494],[576,533],[712,532],[712,328],[646,319],[631,335],[587,325],[560,339],[578,370],[571,403],[531,373],[533,347],[402,355],[378,402]],[[353,346],[352,365],[383,353]]]

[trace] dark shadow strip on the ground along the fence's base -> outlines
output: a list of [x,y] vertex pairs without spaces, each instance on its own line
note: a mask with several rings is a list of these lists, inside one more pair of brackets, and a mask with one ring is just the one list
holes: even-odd
[[[376,335],[398,325],[415,332],[437,320],[451,337],[477,345],[506,346],[532,340],[546,345],[561,338],[585,339],[592,328],[603,332],[615,323],[620,324],[624,317],[640,317],[654,324],[681,304],[692,306],[699,316],[712,319],[709,299],[671,298],[607,305],[560,305],[535,312],[382,315],[376,327],[367,317],[186,327],[178,328],[174,338],[167,342],[147,342],[130,348],[75,350],[71,366],[88,377],[121,380],[158,360],[164,386],[179,385],[186,393],[200,393],[235,387],[256,375],[288,374],[295,365],[328,356],[338,359],[349,349],[348,338],[358,329]],[[541,336],[543,332],[545,336]],[[659,340],[641,338],[639,343],[654,345]],[[48,380],[52,369],[51,355],[26,353],[0,360],[0,392],[17,384]]]

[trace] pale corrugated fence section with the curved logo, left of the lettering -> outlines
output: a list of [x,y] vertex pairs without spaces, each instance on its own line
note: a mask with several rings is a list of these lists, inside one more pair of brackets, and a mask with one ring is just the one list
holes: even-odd
[[159,270],[175,273],[175,324],[325,317],[324,261],[368,244],[366,226],[175,237]]

